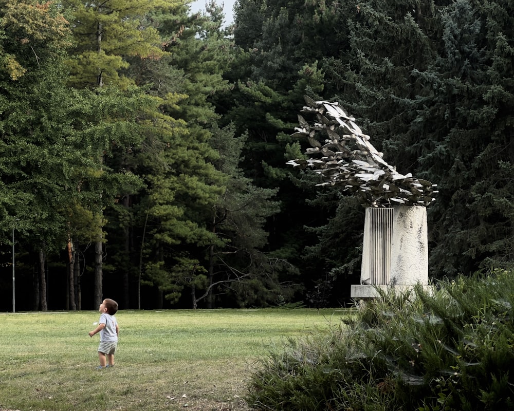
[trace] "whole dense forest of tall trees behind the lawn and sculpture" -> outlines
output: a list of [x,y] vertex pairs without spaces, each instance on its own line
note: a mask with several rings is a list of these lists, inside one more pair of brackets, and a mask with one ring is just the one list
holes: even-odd
[[512,266],[512,2],[189,3],[0,0],[0,310],[347,304],[364,210],[286,165],[304,95],[438,184],[432,278]]

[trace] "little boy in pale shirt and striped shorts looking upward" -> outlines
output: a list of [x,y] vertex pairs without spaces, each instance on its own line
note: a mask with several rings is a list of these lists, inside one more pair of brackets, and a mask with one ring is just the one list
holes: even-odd
[[99,311],[101,315],[98,327],[89,333],[89,337],[93,337],[97,332],[100,332],[100,345],[98,346],[100,366],[97,369],[102,369],[114,367],[114,353],[118,345],[118,333],[120,330],[114,317],[114,314],[118,311],[118,303],[111,300],[111,298],[105,298],[102,304],[100,304]]

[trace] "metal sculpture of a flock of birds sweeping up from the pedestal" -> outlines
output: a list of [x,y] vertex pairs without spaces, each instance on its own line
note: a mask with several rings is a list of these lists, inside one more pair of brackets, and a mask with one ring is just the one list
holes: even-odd
[[364,207],[426,207],[434,200],[437,185],[411,173],[398,173],[337,102],[314,101],[308,96],[304,100],[307,105],[302,113],[314,114],[316,121],[309,124],[298,115],[299,127],[292,136],[307,139],[311,148],[305,154],[311,157],[287,164],[314,170],[322,180],[317,185],[341,186],[356,195]]

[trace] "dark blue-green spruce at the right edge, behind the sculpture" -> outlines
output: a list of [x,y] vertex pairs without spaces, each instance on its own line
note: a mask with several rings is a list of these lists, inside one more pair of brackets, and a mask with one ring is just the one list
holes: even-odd
[[[416,72],[409,150],[440,185],[431,271],[469,274],[512,260],[512,7],[461,0],[440,15],[440,53]],[[509,37],[510,36],[510,37]]]

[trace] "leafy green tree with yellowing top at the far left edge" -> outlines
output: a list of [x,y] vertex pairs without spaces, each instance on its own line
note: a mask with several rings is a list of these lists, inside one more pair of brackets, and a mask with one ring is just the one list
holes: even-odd
[[74,133],[75,96],[63,82],[71,35],[62,10],[50,2],[1,6],[0,213],[4,233],[16,228],[38,251],[34,308],[46,310],[46,255],[65,244],[70,204],[80,201],[77,170],[89,165]]

